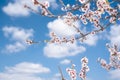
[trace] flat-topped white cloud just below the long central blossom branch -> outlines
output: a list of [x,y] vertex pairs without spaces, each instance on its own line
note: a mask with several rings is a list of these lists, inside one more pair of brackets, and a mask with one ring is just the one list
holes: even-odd
[[84,52],[86,49],[77,43],[63,43],[63,44],[47,44],[44,47],[44,55],[51,58],[62,58],[67,56],[75,56]]

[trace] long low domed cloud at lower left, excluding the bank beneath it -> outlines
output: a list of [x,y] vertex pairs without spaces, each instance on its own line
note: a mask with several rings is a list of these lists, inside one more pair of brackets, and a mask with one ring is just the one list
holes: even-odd
[[50,69],[43,67],[41,64],[34,64],[29,62],[22,62],[14,67],[5,67],[8,73],[26,73],[26,74],[36,74],[36,73],[48,73]]

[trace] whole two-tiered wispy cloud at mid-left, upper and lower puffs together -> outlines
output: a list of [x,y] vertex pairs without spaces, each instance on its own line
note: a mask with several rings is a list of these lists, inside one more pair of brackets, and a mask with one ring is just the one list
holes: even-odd
[[25,50],[27,46],[25,45],[25,40],[33,37],[33,29],[23,29],[13,26],[3,27],[4,36],[8,38],[12,44],[7,44],[4,53],[15,53]]

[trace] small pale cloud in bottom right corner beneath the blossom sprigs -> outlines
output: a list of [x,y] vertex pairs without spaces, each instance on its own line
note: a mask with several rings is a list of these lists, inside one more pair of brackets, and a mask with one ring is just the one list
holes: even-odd
[[109,72],[111,80],[120,80],[120,70],[112,70]]

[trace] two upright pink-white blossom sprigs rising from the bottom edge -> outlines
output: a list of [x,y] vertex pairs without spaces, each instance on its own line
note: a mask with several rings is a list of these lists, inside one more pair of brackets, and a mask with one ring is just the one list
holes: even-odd
[[86,74],[89,71],[89,67],[87,66],[88,64],[88,59],[87,57],[83,57],[81,59],[81,63],[82,63],[82,67],[80,70],[80,73],[77,74],[76,70],[75,70],[75,64],[72,64],[72,68],[67,68],[66,71],[69,74],[71,80],[76,80],[77,76],[79,76],[82,80],[86,79]]

